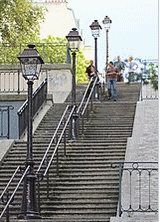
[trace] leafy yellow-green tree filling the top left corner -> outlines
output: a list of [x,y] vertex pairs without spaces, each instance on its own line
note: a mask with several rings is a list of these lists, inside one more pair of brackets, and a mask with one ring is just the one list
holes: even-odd
[[32,0],[0,0],[0,36],[3,43],[26,43],[38,40],[44,8]]

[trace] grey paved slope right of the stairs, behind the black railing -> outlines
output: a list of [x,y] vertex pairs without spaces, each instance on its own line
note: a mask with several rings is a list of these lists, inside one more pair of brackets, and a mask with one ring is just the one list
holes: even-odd
[[[152,162],[158,161],[158,100],[143,100],[137,103],[132,137],[128,139],[126,162]],[[143,164],[145,167],[146,164]],[[154,164],[147,164],[147,167]],[[156,165],[158,167],[158,165]],[[149,204],[149,177],[148,171],[141,174],[141,190],[139,190],[139,174],[133,172],[132,177],[132,207],[138,208],[141,201],[142,208],[147,209]],[[123,174],[122,206],[128,209],[130,203],[130,177]],[[152,172],[150,203],[153,209],[158,208],[158,172]],[[139,193],[141,192],[141,200]],[[123,213],[121,217],[112,217],[110,222],[157,222],[158,213]]]

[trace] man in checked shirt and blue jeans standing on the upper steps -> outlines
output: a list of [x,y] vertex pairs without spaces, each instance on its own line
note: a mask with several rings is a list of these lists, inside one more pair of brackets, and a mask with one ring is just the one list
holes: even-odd
[[118,69],[110,62],[107,69],[107,83],[108,83],[108,99],[111,99],[111,87],[113,85],[114,101],[117,101],[117,76],[120,75]]

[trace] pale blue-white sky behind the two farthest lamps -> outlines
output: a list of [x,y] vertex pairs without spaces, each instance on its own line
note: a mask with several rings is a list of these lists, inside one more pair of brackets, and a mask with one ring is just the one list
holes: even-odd
[[158,59],[158,0],[68,0],[76,19],[80,20],[83,39],[94,48],[89,26],[96,19],[102,26],[98,38],[98,70],[106,63],[106,31],[102,20],[112,20],[109,30],[109,61],[118,55],[122,60],[133,56]]

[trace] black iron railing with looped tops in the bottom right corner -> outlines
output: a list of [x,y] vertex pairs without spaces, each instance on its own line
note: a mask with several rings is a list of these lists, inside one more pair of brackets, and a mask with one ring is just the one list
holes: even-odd
[[[147,166],[146,166],[147,164]],[[150,165],[150,166],[149,166]],[[153,166],[154,165],[154,166]],[[121,217],[123,212],[158,212],[158,209],[153,209],[151,206],[151,176],[152,172],[157,171],[158,173],[158,162],[112,162],[111,163],[112,168],[118,168],[119,169],[119,201],[118,201],[118,215]],[[129,190],[129,203],[128,203],[128,209],[124,209],[122,206],[122,176],[124,176],[124,172],[128,172],[129,176],[129,184],[128,184],[128,190]],[[137,208],[135,209],[132,205],[132,175],[134,172],[137,172],[138,178],[138,202],[139,205],[137,204]],[[148,195],[148,208],[144,209],[142,207],[142,190],[141,190],[141,183],[142,183],[142,173],[147,172],[148,173],[148,192],[145,190],[145,195]],[[134,174],[135,175],[135,174]],[[157,175],[157,180],[158,180],[158,175]],[[146,181],[146,176],[145,176],[145,181]],[[158,181],[157,181],[157,192],[158,192]],[[126,193],[125,193],[126,195]],[[135,201],[134,201],[135,202]]]

